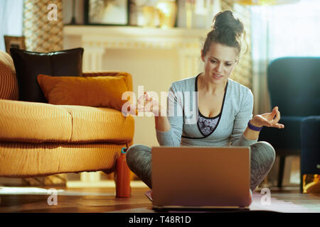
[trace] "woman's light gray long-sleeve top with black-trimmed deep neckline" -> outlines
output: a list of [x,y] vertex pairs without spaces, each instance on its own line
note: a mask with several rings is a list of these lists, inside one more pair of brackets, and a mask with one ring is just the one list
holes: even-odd
[[[220,118],[213,133],[204,136],[198,128],[197,77],[171,84],[167,98],[170,131],[156,130],[161,146],[249,146],[243,132],[252,118],[253,95],[250,89],[228,79]],[[212,103],[214,105],[214,103]]]

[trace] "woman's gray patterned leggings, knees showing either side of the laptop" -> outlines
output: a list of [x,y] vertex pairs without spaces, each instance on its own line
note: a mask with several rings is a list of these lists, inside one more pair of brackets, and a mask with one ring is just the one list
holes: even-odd
[[[272,145],[265,141],[253,143],[250,148],[250,189],[253,192],[271,170],[275,153]],[[140,144],[132,145],[127,150],[126,156],[129,169],[151,189],[151,148]]]

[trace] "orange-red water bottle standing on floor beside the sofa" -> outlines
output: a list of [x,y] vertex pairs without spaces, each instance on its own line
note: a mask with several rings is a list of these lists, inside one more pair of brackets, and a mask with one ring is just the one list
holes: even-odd
[[130,170],[126,161],[127,148],[122,148],[117,159],[116,197],[128,198],[131,194]]

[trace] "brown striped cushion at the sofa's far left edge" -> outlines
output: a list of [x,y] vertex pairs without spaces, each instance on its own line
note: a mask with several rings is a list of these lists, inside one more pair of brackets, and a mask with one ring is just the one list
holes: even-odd
[[18,100],[18,82],[14,62],[9,54],[0,50],[0,99]]

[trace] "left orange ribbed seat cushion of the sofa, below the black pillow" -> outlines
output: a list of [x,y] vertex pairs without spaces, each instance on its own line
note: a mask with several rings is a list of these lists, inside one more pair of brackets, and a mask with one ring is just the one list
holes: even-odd
[[0,140],[15,142],[68,142],[72,118],[60,106],[0,99]]

